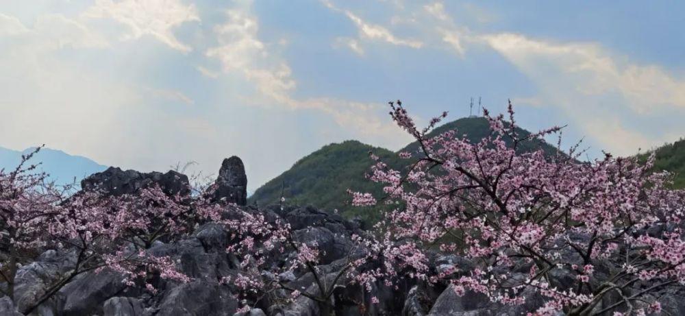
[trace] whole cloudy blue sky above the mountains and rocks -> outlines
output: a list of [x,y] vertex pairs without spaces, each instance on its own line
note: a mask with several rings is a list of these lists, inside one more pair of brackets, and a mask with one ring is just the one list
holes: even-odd
[[399,149],[511,99],[590,156],[685,136],[679,1],[32,0],[0,3],[0,147],[216,174],[252,191],[328,143]]

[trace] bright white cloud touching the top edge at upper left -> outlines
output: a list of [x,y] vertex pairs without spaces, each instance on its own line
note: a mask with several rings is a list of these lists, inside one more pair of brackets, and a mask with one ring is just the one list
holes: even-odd
[[97,0],[83,16],[92,19],[111,18],[126,25],[129,33],[123,36],[123,40],[149,35],[184,52],[192,49],[176,38],[173,29],[186,22],[200,21],[195,5],[184,5],[178,0]]

